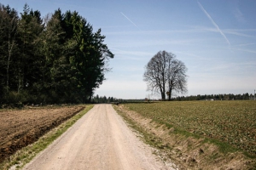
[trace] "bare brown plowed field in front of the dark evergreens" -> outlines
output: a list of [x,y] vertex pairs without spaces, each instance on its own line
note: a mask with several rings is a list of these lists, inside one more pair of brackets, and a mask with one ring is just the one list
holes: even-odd
[[0,162],[82,110],[84,106],[0,111]]

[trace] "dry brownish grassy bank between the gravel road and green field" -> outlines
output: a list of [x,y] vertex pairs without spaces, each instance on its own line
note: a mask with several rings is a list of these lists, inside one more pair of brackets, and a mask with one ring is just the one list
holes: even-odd
[[255,159],[247,158],[241,152],[224,154],[218,150],[218,146],[203,142],[202,138],[186,137],[174,133],[174,128],[168,128],[153,122],[147,117],[130,111],[125,105],[116,107],[121,114],[134,122],[153,136],[157,148],[155,152],[166,160],[172,160],[180,169],[253,169]]

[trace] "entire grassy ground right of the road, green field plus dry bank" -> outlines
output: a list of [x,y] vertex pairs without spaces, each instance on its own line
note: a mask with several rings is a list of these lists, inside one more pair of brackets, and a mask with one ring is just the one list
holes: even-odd
[[[236,159],[233,162],[241,162],[238,163],[239,166],[244,166],[245,169],[256,167],[253,150],[247,150],[255,146],[254,101],[186,101],[124,105],[113,107],[136,129],[145,143],[160,150],[154,151],[157,155],[168,156],[167,159],[177,161],[177,165],[182,164],[185,169],[191,165],[198,166],[197,169],[224,167],[233,159]],[[137,114],[130,114],[130,111]],[[148,122],[146,127],[145,122],[141,123],[143,120]],[[239,142],[241,136],[247,134],[242,133],[242,130],[250,134],[247,135],[247,143],[243,143],[248,144],[246,147],[239,147],[240,144],[230,142],[234,141],[234,138]],[[218,135],[213,135],[215,133]],[[220,138],[222,136],[230,136],[233,140]],[[194,159],[195,153],[198,153],[198,156]]]

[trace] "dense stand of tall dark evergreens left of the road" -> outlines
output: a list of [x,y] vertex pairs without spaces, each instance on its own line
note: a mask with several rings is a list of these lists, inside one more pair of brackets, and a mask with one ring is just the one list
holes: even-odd
[[104,38],[76,11],[0,3],[0,105],[90,101],[113,58]]

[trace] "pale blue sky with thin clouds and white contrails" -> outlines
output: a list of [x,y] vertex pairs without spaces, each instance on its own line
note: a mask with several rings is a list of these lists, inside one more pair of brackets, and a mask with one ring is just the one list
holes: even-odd
[[[100,96],[143,99],[144,66],[166,50],[188,71],[188,93],[253,94],[256,88],[255,0],[2,0],[22,12],[27,3],[43,16],[78,11],[115,54]],[[181,94],[177,94],[181,95]],[[159,95],[151,95],[158,99]]]

